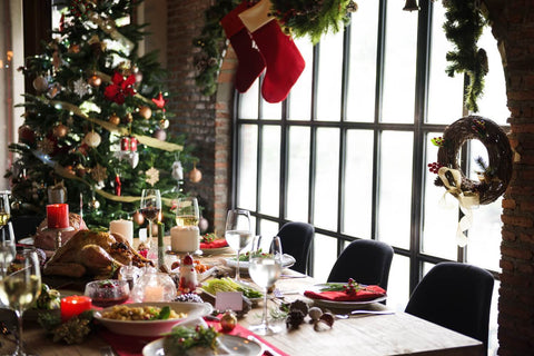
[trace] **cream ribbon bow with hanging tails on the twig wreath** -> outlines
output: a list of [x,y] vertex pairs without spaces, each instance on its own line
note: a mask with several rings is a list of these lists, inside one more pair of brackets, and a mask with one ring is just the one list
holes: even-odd
[[[447,172],[451,172],[453,176],[453,182],[448,180],[446,176]],[[473,224],[473,212],[471,210],[478,207],[478,194],[471,191],[464,192],[462,190],[462,174],[457,169],[442,167],[437,171],[437,175],[439,179],[442,179],[445,188],[447,188],[442,197],[442,201],[446,199],[447,194],[451,194],[458,200],[459,209],[464,214],[456,229],[456,243],[459,247],[465,247],[465,245],[467,245],[467,236],[464,231],[468,230]]]

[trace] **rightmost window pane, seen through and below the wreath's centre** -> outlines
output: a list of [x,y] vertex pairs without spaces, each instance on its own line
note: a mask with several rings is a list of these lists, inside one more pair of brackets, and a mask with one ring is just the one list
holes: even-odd
[[[469,177],[476,178],[476,171],[483,169],[475,162],[477,158],[488,165],[487,150],[478,140],[469,140],[471,145],[471,171]],[[472,209],[473,225],[466,231],[467,243],[467,261],[484,268],[498,271],[501,259],[501,221],[502,198],[488,205],[481,205]]]

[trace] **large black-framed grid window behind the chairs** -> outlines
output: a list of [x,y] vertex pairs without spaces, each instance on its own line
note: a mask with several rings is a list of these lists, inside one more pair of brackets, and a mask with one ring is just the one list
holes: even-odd
[[[406,12],[397,1],[358,2],[344,32],[315,47],[296,41],[306,69],[286,101],[267,103],[258,81],[238,97],[235,110],[234,199],[251,211],[256,233],[276,234],[288,220],[313,224],[309,271],[318,280],[326,280],[349,241],[390,244],[387,303],[398,309],[436,263],[500,270],[500,201],[474,210],[469,243],[458,248],[457,204],[442,207],[444,189],[427,170],[437,154],[431,138],[468,112],[464,78],[445,75],[452,44],[442,30],[443,6],[426,0],[419,6],[419,12]],[[490,29],[479,44],[491,70],[477,115],[504,125],[504,75]],[[479,156],[487,161],[478,141],[465,145],[464,171],[473,172]],[[493,300],[496,305],[496,294]]]

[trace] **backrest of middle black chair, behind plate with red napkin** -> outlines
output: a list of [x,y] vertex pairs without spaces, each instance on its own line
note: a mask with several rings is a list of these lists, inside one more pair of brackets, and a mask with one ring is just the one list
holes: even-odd
[[332,267],[328,281],[347,281],[353,278],[357,283],[378,285],[387,290],[393,255],[393,248],[383,241],[352,241]]

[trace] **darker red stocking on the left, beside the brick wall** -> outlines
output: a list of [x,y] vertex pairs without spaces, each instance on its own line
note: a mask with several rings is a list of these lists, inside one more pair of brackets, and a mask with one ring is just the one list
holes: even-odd
[[253,39],[238,17],[247,9],[247,1],[244,1],[220,20],[239,61],[236,73],[236,89],[239,92],[247,91],[265,69],[261,53],[253,47]]

